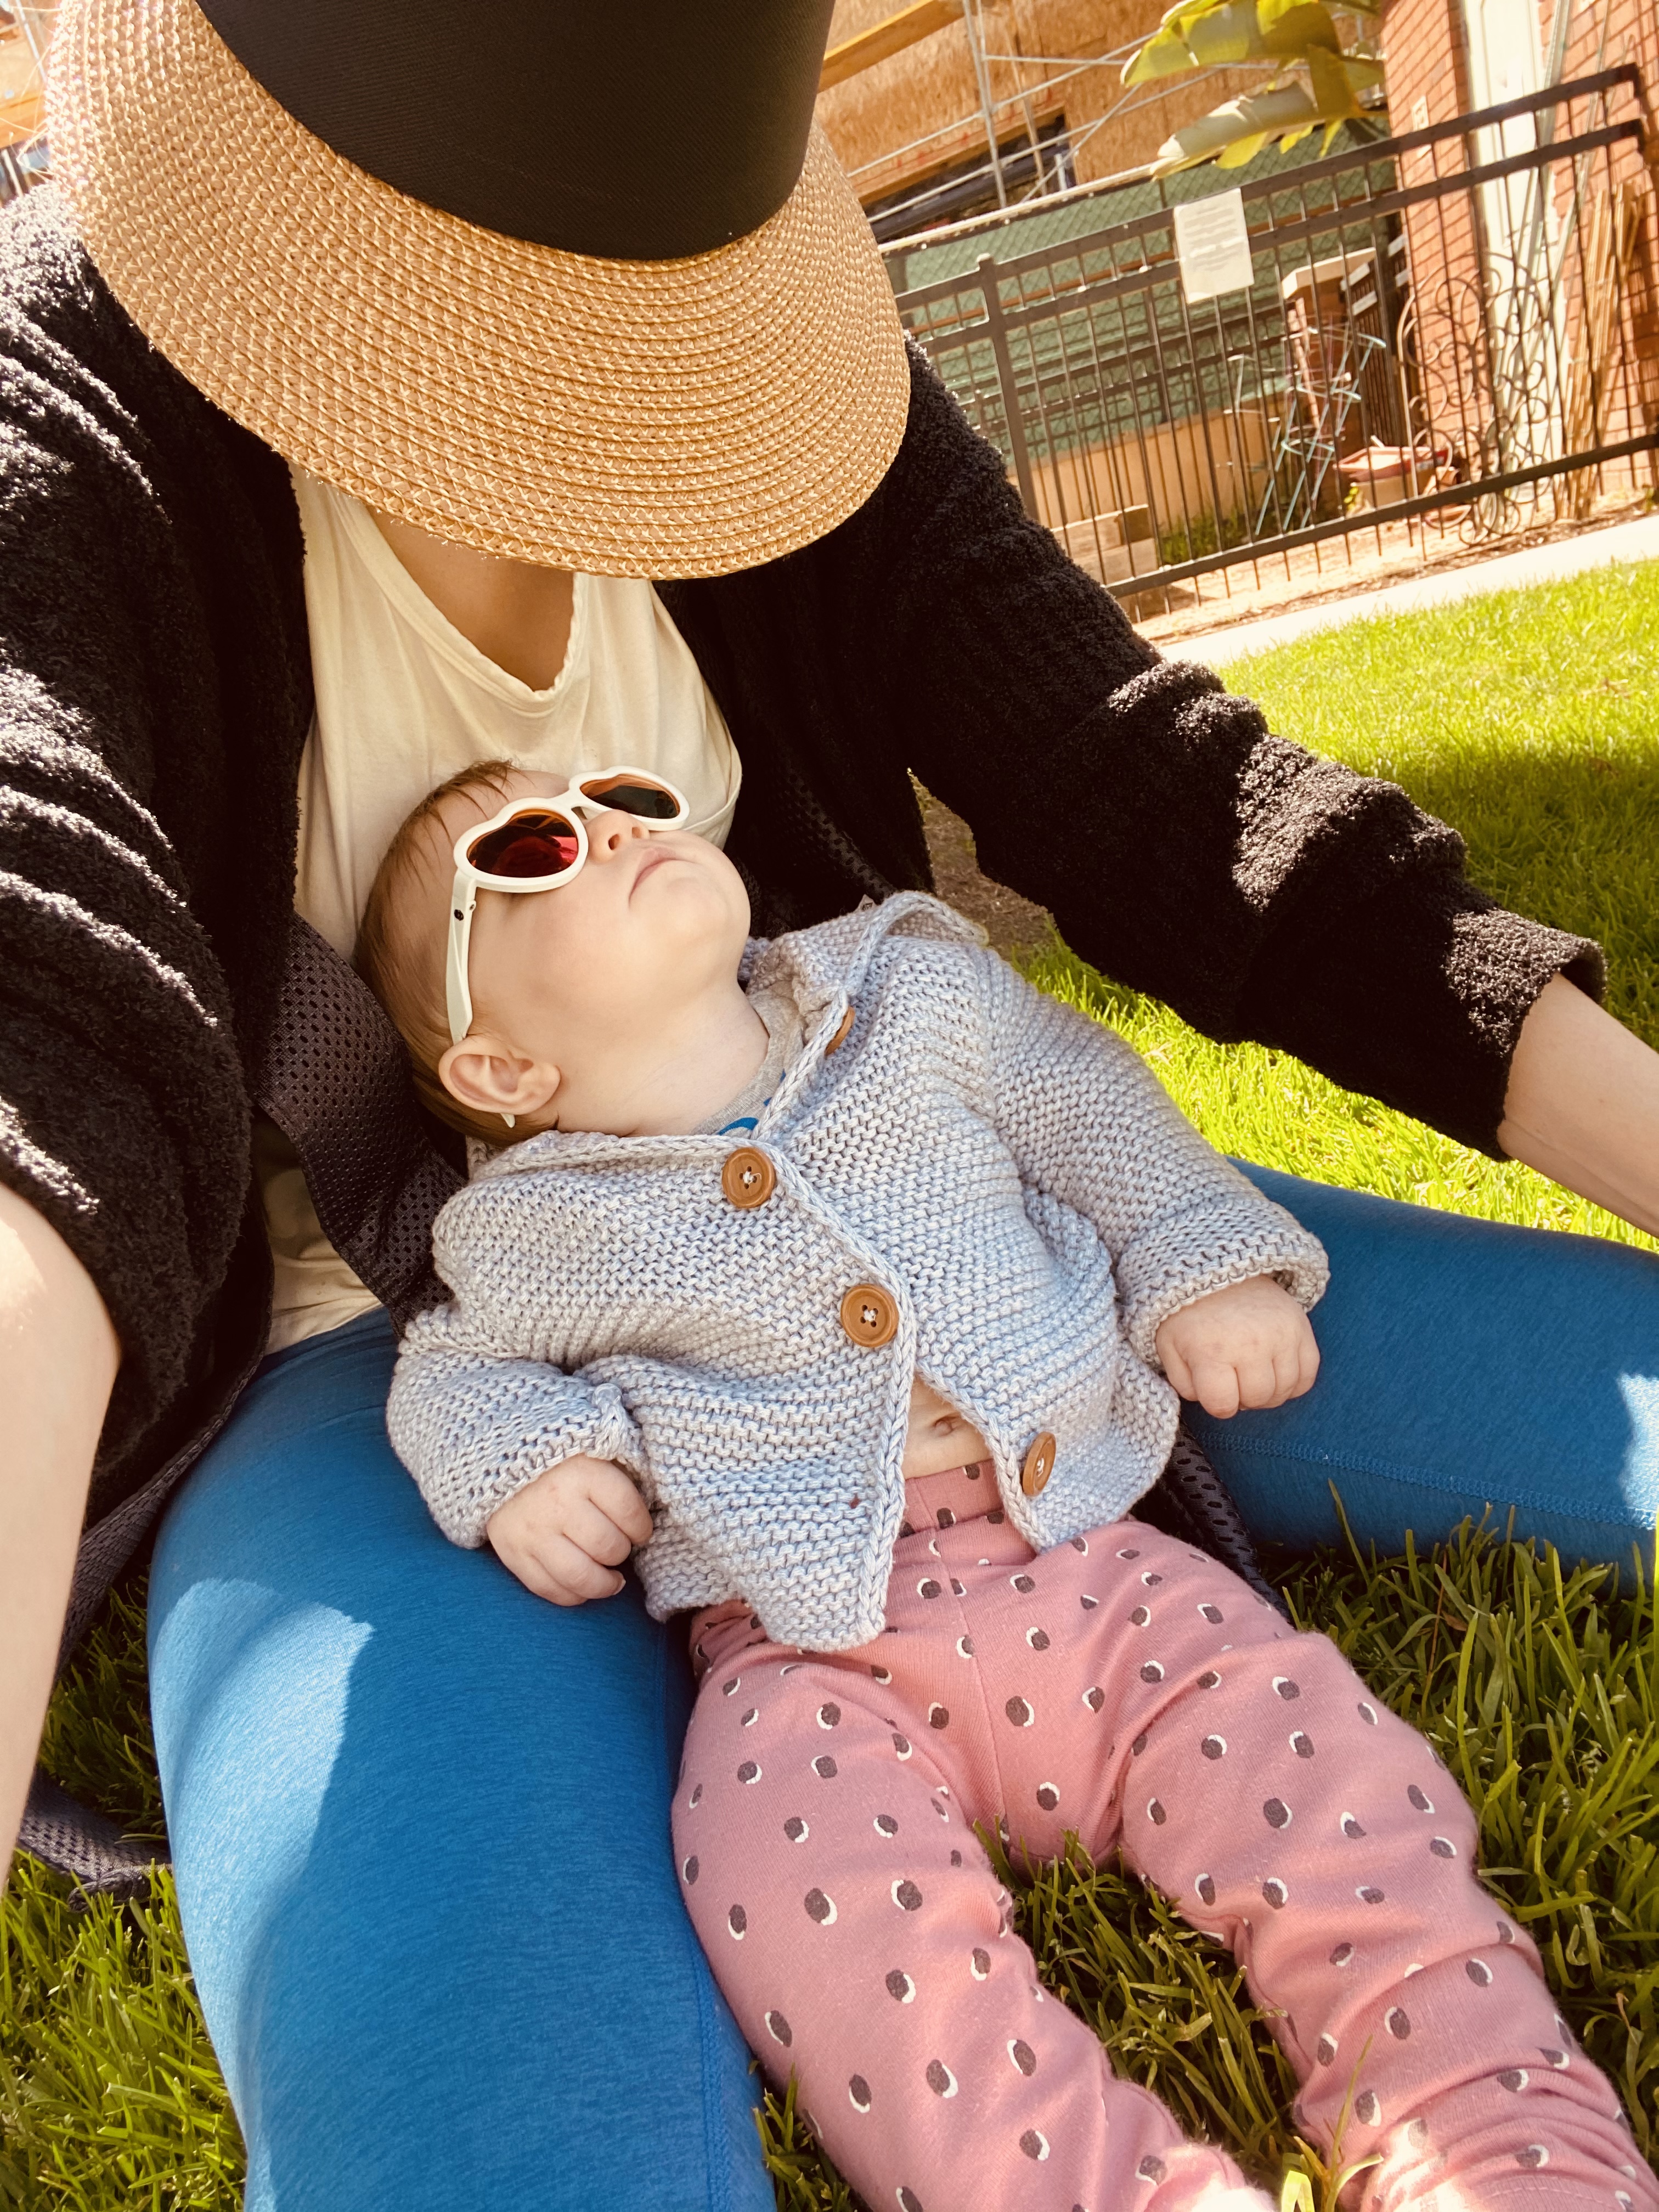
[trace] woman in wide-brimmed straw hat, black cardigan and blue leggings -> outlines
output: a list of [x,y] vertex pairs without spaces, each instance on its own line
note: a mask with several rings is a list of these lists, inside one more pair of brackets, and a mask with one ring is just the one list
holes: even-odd
[[[1106,971],[1659,1225],[1595,949],[1161,664],[907,358],[827,20],[66,0],[62,195],[0,239],[4,1818],[66,1604],[170,1500],[254,2208],[770,2201],[668,1860],[684,1655],[456,1553],[383,1433],[460,1166],[345,953],[451,768],[666,768],[768,931],[927,880],[914,772]],[[1325,1380],[1212,1436],[1261,1531],[1325,1533],[1327,1473],[1380,1542],[1652,1524],[1648,1259],[1292,1203]]]

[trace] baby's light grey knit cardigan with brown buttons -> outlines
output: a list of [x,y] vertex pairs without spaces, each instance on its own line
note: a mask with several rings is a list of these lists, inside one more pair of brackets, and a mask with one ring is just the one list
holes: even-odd
[[[438,1214],[453,1296],[411,1323],[387,1427],[456,1544],[553,1462],[619,1460],[655,1520],[637,1566],[659,1619],[745,1597],[779,1641],[847,1650],[883,1628],[914,1374],[980,1429],[1044,1551],[1164,1469],[1168,1314],[1256,1274],[1312,1305],[1325,1252],[1121,1037],[938,900],[750,962],[805,1029],[745,1137],[776,1177],[765,1203],[728,1199],[730,1137],[513,1146]],[[896,1310],[876,1349],[843,1327],[854,1285]],[[1026,1498],[1042,1431],[1057,1462]]]

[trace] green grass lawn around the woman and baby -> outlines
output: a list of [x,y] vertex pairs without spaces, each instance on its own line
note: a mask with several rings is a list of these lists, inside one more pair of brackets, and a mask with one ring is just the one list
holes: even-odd
[[[1285,737],[1394,776],[1453,821],[1504,902],[1599,936],[1610,1004],[1659,1044],[1659,562],[1334,630],[1237,664],[1230,686]],[[1285,1055],[1212,1046],[1062,951],[1033,973],[1115,1022],[1225,1150],[1455,1212],[1646,1241]],[[1652,1601],[1486,1540],[1298,1562],[1285,1590],[1460,1776],[1486,1880],[1531,1927],[1564,2013],[1659,2154]],[[133,1604],[111,1610],[60,1688],[46,1763],[159,1834]],[[1261,2177],[1301,2170],[1327,2201],[1230,1958],[1082,1856],[1018,1887],[1044,1980],[1099,2026],[1119,2068]],[[75,1913],[24,1863],[2,1927],[0,2205],[230,2212],[241,2152],[170,1885],[142,1909]],[[781,2205],[854,2205],[787,2104],[768,2106],[765,2137]]]

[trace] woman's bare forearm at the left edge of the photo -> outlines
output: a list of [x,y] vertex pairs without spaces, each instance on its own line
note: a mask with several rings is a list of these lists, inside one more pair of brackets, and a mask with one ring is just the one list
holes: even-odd
[[0,1186],[0,1836],[22,1820],[119,1345],[58,1230]]

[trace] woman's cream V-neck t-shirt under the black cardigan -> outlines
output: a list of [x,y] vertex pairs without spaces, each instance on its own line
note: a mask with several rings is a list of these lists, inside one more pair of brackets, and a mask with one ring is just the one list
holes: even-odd
[[[334,951],[349,958],[398,823],[469,761],[560,776],[648,768],[686,794],[692,830],[726,843],[737,748],[648,582],[577,575],[564,668],[549,690],[531,690],[438,613],[358,500],[290,473],[316,684],[299,768],[294,907]],[[263,1119],[254,1172],[276,1265],[270,1349],[369,1312],[376,1298],[323,1237],[299,1157]]]

